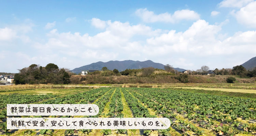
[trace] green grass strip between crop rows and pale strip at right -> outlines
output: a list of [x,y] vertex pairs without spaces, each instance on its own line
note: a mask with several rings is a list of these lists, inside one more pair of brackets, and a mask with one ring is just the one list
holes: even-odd
[[170,89],[194,92],[194,93],[209,94],[209,95],[217,95],[217,96],[229,96],[229,97],[256,99],[256,94],[252,94],[252,93],[203,90],[203,89],[200,89],[200,90],[199,89],[183,89],[183,88],[170,88]]

